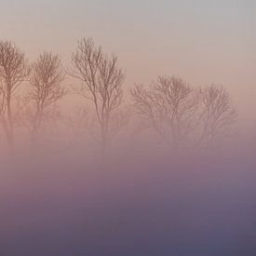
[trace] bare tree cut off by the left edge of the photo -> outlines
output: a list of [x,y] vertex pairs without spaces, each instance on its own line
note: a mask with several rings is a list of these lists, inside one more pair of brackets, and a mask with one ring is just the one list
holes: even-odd
[[7,142],[13,146],[13,100],[30,73],[24,53],[12,42],[0,42],[0,118]]

